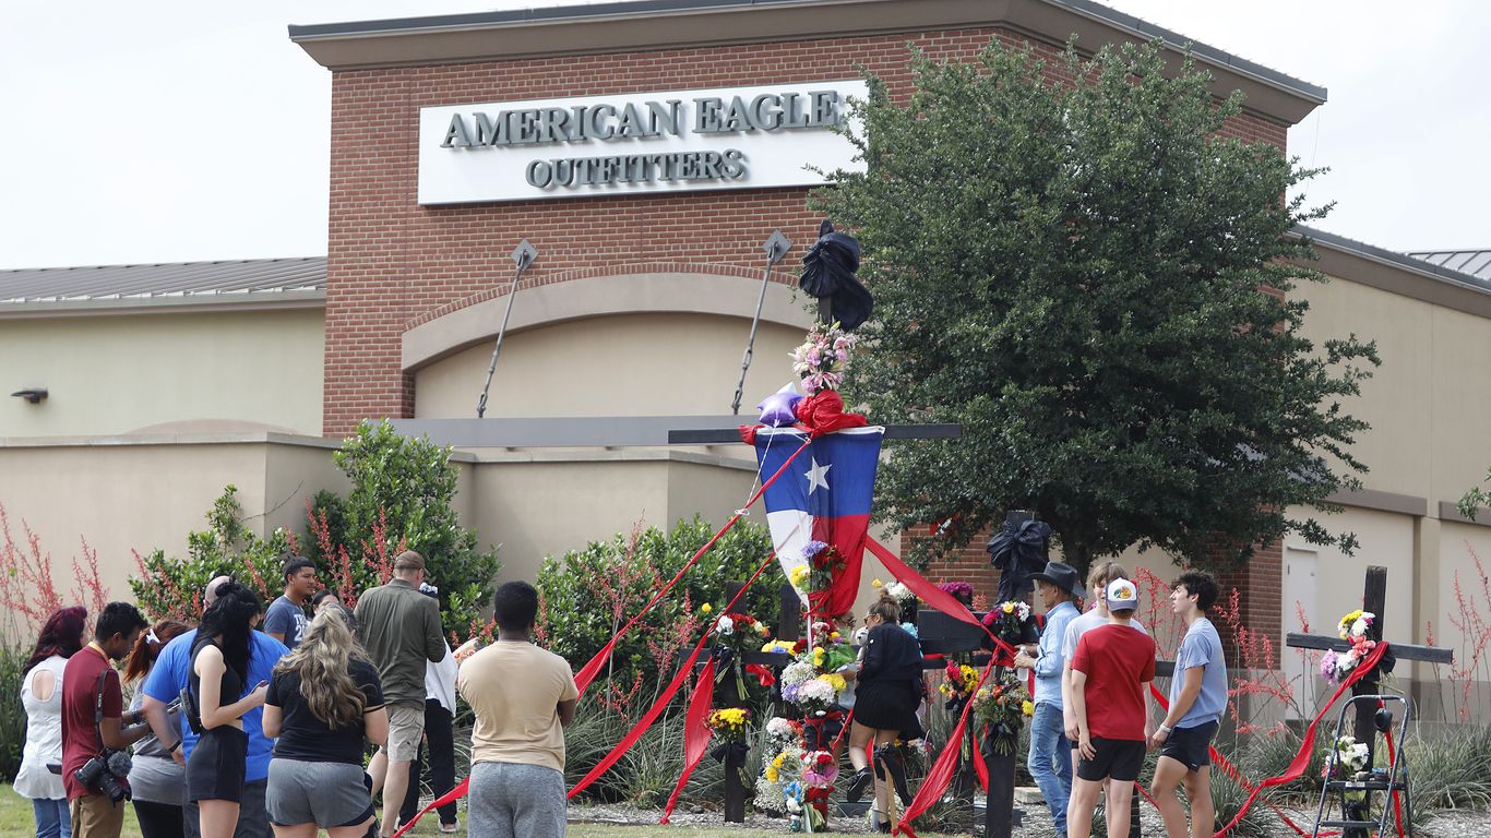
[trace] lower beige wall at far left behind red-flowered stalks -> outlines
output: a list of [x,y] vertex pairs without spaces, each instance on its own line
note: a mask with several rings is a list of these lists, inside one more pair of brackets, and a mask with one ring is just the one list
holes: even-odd
[[128,599],[133,550],[183,556],[186,534],[224,488],[239,489],[248,526],[304,531],[306,500],[346,491],[321,440],[277,434],[237,437],[75,437],[9,440],[0,446],[0,504],[12,537],[30,526],[51,553],[58,587],[72,586],[81,538],[98,552],[113,598]]

